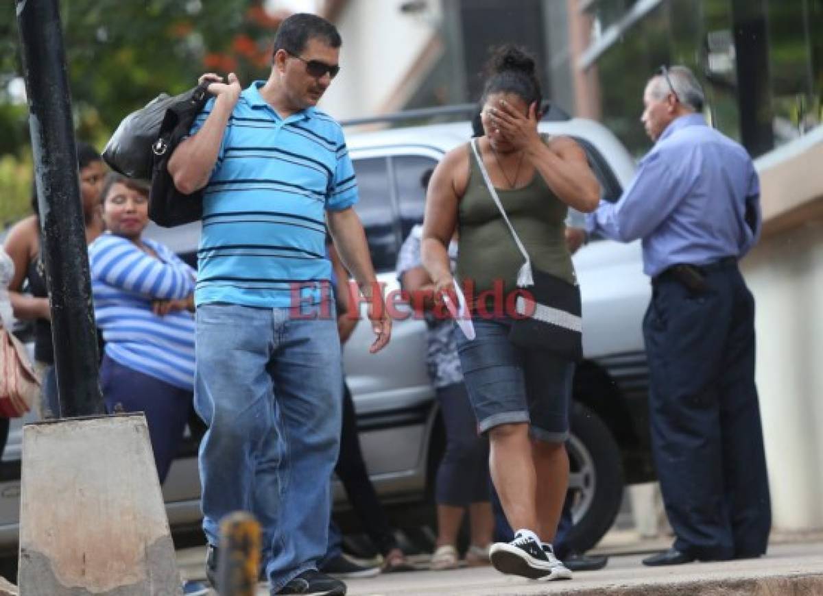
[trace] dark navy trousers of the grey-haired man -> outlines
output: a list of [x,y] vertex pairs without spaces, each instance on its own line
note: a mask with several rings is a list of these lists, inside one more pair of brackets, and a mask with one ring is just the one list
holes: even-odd
[[755,386],[755,301],[734,263],[695,293],[653,281],[644,318],[654,461],[674,546],[703,560],[763,554],[769,479]]

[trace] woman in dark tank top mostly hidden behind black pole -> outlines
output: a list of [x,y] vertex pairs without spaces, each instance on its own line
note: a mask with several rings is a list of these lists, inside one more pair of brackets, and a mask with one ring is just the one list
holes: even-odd
[[[100,188],[106,167],[100,154],[83,142],[77,143],[77,166],[80,169],[80,196],[86,223],[86,243],[103,232],[100,214]],[[4,247],[12,257],[15,275],[9,284],[14,316],[34,321],[35,363],[43,379],[43,395],[38,406],[40,418],[58,416],[57,378],[54,374],[54,349],[51,337],[51,310],[46,286],[45,261],[40,246],[40,206],[32,184],[33,215],[21,219],[9,231]],[[28,283],[24,293],[24,282]]]

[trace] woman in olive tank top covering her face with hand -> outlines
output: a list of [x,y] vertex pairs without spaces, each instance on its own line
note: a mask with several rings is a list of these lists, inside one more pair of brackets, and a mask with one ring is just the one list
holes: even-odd
[[[537,133],[541,102],[534,60],[504,46],[492,56],[481,104],[483,164],[533,266],[574,281],[564,240],[569,207],[597,207],[600,187],[584,151],[570,138]],[[511,543],[495,543],[499,571],[528,578],[569,579],[551,543],[569,483],[565,440],[574,364],[509,342],[506,297],[517,288],[523,256],[486,187],[469,145],[449,151],[426,198],[423,264],[439,299],[453,284],[446,247],[459,230],[457,276],[474,284],[477,333],[458,332],[463,376],[478,427],[491,442],[491,476]],[[513,301],[509,301],[512,303]]]

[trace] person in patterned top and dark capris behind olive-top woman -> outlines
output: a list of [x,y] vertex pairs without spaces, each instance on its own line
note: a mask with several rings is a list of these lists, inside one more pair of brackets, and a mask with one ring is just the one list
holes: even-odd
[[[432,170],[424,173],[421,184],[429,186]],[[489,441],[477,431],[472,413],[460,357],[457,348],[457,327],[452,319],[440,319],[432,313],[434,284],[423,268],[421,238],[423,227],[416,225],[403,243],[396,267],[402,289],[413,297],[425,298],[421,303],[425,316],[426,366],[435,386],[437,403],[446,431],[446,448],[435,478],[437,503],[437,541],[430,569],[457,569],[459,564],[458,532],[463,515],[469,514],[469,566],[489,564],[489,547],[494,530],[494,517],[489,496]],[[449,263],[456,266],[458,238],[455,233],[449,243]]]

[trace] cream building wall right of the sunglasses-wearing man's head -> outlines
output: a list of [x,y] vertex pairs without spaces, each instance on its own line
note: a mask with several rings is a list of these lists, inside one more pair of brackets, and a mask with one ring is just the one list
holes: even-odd
[[[320,107],[334,118],[356,118],[398,109],[401,90],[435,37],[439,10],[426,16],[400,12],[402,0],[351,0],[337,29],[343,38],[341,71]],[[433,9],[439,2],[429,2]],[[424,69],[425,71],[425,69]],[[416,85],[411,85],[416,86]],[[394,101],[393,101],[394,99]]]

